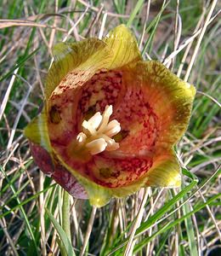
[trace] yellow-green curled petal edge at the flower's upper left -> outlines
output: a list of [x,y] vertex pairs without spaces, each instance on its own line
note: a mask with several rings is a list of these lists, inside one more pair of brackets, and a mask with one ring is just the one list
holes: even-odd
[[110,49],[97,38],[89,38],[77,43],[56,44],[53,55],[54,62],[46,79],[46,99],[67,73],[85,71],[92,76],[97,70],[108,68],[111,63]]

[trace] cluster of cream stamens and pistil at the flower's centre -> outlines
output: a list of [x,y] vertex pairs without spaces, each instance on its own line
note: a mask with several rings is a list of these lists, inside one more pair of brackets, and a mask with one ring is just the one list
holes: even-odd
[[102,115],[97,112],[88,121],[82,122],[83,131],[77,135],[77,143],[80,148],[88,148],[90,154],[99,154],[105,149],[112,151],[119,148],[119,143],[116,143],[111,137],[121,131],[121,125],[116,119],[109,122],[112,113],[113,107],[106,106]]

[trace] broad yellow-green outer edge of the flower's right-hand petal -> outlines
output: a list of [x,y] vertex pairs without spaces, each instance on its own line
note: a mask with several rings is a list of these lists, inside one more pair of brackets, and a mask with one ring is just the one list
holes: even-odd
[[171,149],[184,135],[195,97],[195,87],[173,74],[159,61],[139,61],[135,67],[145,99],[160,120],[156,148]]

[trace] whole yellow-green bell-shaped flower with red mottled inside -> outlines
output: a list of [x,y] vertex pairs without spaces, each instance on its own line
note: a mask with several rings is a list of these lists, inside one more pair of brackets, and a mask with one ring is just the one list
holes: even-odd
[[96,207],[145,186],[180,185],[174,145],[195,96],[159,61],[143,61],[133,33],[54,47],[42,113],[27,125],[43,172]]

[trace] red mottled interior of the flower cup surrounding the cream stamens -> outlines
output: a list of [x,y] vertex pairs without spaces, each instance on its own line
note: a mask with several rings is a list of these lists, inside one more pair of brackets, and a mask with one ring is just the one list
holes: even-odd
[[[158,136],[158,117],[144,100],[144,88],[136,81],[127,83],[127,76],[126,71],[102,70],[79,88],[75,84],[69,87],[67,77],[59,84],[63,92],[50,99],[55,112],[49,116],[48,129],[55,151],[82,176],[110,188],[132,183],[148,172]],[[116,119],[122,127],[114,137],[120,148],[81,159],[73,145],[82,121],[98,111],[103,113],[106,105],[113,106],[110,121]]]

